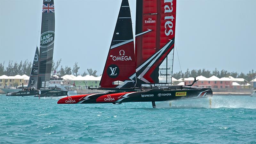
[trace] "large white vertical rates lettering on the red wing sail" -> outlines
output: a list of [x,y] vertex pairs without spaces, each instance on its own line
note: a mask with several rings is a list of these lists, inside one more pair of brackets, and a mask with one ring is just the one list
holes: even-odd
[[[173,11],[173,7],[172,7],[172,0],[165,0],[164,1],[164,14],[165,15],[168,15],[168,13],[171,13]],[[164,23],[164,28],[165,28],[165,35],[166,36],[169,36],[170,34],[173,35],[173,21],[174,17],[172,15],[169,15],[169,16],[165,16],[164,17],[164,20],[165,20],[165,23]]]

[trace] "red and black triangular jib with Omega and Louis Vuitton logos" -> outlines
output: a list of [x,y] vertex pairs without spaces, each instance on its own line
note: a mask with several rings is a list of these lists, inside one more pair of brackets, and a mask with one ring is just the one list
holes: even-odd
[[136,84],[135,68],[130,7],[128,0],[123,0],[100,87],[134,87]]

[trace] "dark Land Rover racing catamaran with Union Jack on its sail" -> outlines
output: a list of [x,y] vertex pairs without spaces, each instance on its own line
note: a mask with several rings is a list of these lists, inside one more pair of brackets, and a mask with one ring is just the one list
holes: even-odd
[[68,95],[68,91],[49,89],[52,57],[54,46],[54,2],[53,0],[43,1],[41,36],[40,36],[40,51],[36,47],[36,53],[33,61],[33,66],[29,78],[28,87],[34,87],[35,90],[18,91],[7,93],[6,96],[33,96],[40,97],[57,97]]

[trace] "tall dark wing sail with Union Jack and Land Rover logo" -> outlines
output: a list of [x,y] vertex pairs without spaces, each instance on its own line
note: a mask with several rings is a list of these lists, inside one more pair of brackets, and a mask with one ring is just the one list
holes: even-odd
[[48,88],[52,70],[52,56],[54,45],[54,2],[44,0],[42,11],[41,37],[40,37],[40,57],[38,68],[37,89]]

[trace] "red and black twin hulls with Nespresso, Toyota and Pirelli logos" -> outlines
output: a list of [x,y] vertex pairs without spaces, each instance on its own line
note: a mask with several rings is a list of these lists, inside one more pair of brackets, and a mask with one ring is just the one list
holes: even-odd
[[62,98],[58,104],[86,104],[86,103],[123,103],[123,102],[150,102],[195,99],[211,97],[212,90],[203,89],[182,89],[182,90],[161,90],[141,89],[134,92],[106,92],[96,94],[85,94]]

